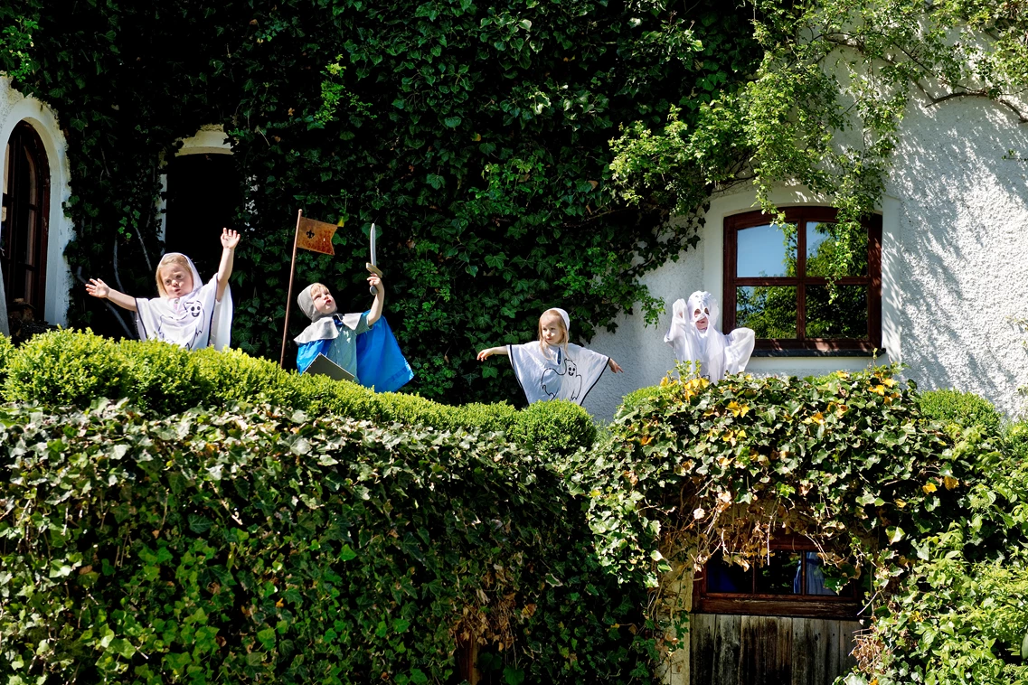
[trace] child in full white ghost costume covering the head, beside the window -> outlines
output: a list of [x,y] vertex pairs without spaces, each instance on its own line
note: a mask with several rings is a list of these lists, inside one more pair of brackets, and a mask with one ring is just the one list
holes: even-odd
[[672,309],[664,342],[674,348],[678,361],[698,363],[697,372],[711,383],[745,370],[756,336],[750,329],[735,329],[728,335],[719,331],[721,310],[712,295],[696,291],[688,303],[677,300]]

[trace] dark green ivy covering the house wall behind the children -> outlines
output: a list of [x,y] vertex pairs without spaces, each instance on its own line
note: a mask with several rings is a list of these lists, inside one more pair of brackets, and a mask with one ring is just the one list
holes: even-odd
[[[222,124],[244,180],[238,345],[277,355],[297,208],[345,220],[336,258],[301,254],[298,277],[351,308],[366,304],[375,222],[410,389],[449,401],[520,401],[473,351],[530,339],[548,306],[584,340],[619,311],[659,309],[638,277],[696,224],[617,199],[609,141],[670,105],[688,119],[757,56],[746,10],[714,2],[17,0],[0,20],[15,87],[66,129],[74,272],[113,282],[117,245],[124,290],[151,294],[161,159]],[[121,332],[78,290],[70,318]]]

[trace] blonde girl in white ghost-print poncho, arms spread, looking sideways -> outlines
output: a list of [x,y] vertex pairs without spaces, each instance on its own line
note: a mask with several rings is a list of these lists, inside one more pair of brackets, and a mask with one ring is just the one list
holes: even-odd
[[547,309],[539,317],[539,341],[489,347],[478,353],[482,361],[492,354],[511,358],[514,375],[528,404],[567,399],[581,405],[603,372],[621,367],[609,356],[567,342],[571,317],[563,309]]

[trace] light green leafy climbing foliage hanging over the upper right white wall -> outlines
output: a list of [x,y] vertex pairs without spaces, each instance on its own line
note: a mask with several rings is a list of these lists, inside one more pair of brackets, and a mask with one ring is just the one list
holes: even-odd
[[[727,84],[692,122],[668,110],[615,142],[625,196],[693,210],[705,184],[800,184],[839,208],[835,275],[858,254],[859,220],[881,198],[911,106],[979,98],[1028,120],[1028,5],[1023,1],[752,0],[763,56],[754,77]],[[783,221],[783,219],[782,219]]]

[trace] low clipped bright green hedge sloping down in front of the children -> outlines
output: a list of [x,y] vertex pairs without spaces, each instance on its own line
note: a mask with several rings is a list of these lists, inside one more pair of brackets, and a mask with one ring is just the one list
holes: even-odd
[[[325,376],[283,371],[272,361],[238,350],[195,352],[155,341],[113,340],[85,332],[52,331],[9,350],[4,395],[45,408],[85,409],[98,397],[124,397],[152,416],[192,407],[267,403],[313,416],[335,414],[393,422],[500,431],[542,455],[588,448],[596,427],[581,407],[550,402],[516,410],[510,405],[450,407],[417,395],[374,392]],[[0,371],[0,375],[3,372]]]

